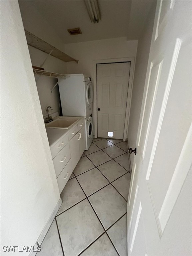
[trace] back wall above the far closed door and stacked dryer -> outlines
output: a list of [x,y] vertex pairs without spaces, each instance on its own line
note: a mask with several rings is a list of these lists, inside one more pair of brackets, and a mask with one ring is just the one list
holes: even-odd
[[127,41],[126,37],[65,44],[65,53],[79,60],[68,62],[67,72],[84,73],[93,78],[93,60],[135,57],[137,40]]

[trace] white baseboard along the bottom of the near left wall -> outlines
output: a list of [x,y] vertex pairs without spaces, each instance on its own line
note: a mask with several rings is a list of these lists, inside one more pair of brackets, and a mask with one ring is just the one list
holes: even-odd
[[[38,237],[37,242],[36,242],[35,245],[34,245],[34,248],[35,248],[35,249],[37,248],[38,245],[41,245],[41,244],[42,244],[43,239],[45,238],[45,236],[46,236],[46,234],[47,234],[47,231],[49,230],[49,228],[50,228],[50,226],[51,226],[51,224],[52,224],[52,222],[53,222],[53,220],[54,220],[54,218],[55,218],[55,216],[56,216],[56,214],[57,214],[57,212],[58,212],[58,210],[59,210],[61,204],[62,204],[62,200],[61,200],[61,197],[60,197],[60,198],[59,198],[59,201],[57,202],[57,204],[56,204],[56,206],[55,206],[53,212],[51,213],[51,216],[49,217],[49,219],[48,219],[48,221],[47,221],[45,227],[43,228],[43,230],[42,230],[40,236]],[[35,256],[36,253],[37,253],[37,252],[30,252],[29,256]]]

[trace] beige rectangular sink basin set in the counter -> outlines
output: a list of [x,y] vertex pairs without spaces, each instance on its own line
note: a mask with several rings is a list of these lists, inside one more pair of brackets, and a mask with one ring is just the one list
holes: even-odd
[[56,128],[56,129],[69,129],[76,122],[78,122],[82,117],[75,116],[61,116],[54,121],[45,125],[46,128]]

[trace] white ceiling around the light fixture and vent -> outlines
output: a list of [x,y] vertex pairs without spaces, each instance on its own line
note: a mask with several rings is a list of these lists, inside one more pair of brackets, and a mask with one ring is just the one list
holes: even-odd
[[[151,4],[152,1],[149,0],[102,0],[99,1],[101,21],[91,23],[85,3],[81,0],[19,1],[21,14],[38,12],[65,44],[123,36],[126,36],[127,40],[137,40],[142,33]],[[67,29],[76,27],[80,27],[82,34],[71,36]]]

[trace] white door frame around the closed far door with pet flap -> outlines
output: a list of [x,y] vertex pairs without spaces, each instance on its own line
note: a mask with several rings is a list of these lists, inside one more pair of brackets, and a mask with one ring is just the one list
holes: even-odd
[[110,64],[110,63],[121,63],[121,62],[130,62],[127,105],[126,105],[126,113],[125,113],[124,132],[123,132],[123,140],[124,141],[126,140],[127,128],[129,125],[130,109],[131,109],[131,96],[132,96],[132,88],[133,88],[133,75],[135,70],[135,57],[104,59],[104,60],[93,61],[93,92],[94,92],[93,114],[94,114],[94,137],[95,138],[97,138],[97,64]]

